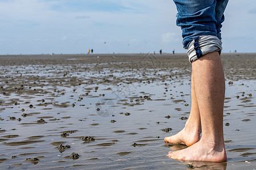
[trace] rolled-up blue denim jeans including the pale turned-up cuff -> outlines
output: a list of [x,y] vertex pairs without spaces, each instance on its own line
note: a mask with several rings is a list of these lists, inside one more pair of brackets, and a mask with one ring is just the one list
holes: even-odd
[[177,26],[181,27],[183,46],[189,61],[222,50],[221,27],[228,0],[174,0]]

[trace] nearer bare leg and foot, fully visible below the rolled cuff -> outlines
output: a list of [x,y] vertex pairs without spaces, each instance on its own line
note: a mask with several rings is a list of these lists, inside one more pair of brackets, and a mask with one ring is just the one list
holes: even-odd
[[208,53],[192,63],[195,93],[199,105],[202,137],[191,147],[167,156],[179,160],[225,162],[223,108],[225,79],[218,52]]

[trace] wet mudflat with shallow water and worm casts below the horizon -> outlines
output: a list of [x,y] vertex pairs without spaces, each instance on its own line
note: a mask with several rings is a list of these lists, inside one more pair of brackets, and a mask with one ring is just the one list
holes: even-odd
[[0,56],[1,169],[256,169],[256,54],[223,54],[227,163],[180,162],[185,54]]

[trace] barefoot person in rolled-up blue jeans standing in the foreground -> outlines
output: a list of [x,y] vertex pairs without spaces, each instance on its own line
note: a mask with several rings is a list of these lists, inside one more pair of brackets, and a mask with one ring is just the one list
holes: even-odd
[[228,0],[175,0],[177,26],[188,49],[191,111],[183,130],[164,138],[187,148],[170,151],[172,159],[225,162],[223,133],[225,77],[221,64],[221,27]]

